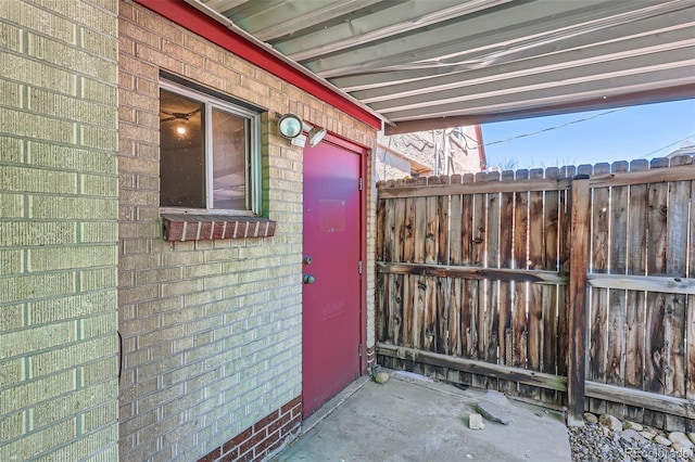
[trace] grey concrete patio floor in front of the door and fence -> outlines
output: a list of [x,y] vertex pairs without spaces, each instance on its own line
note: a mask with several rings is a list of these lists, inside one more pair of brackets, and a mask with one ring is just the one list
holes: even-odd
[[507,400],[509,425],[468,414],[485,392],[391,372],[383,384],[361,377],[303,423],[302,434],[270,460],[299,461],[570,461],[563,416]]

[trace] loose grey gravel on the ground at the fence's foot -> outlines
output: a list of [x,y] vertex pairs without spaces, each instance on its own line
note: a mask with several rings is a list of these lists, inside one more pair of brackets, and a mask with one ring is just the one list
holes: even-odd
[[672,449],[649,440],[636,441],[601,424],[584,422],[569,428],[572,461],[581,462],[682,462],[695,461],[693,450]]

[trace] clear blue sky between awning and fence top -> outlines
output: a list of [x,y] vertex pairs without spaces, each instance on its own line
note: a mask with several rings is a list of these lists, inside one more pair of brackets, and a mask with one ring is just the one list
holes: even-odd
[[546,168],[664,157],[695,144],[695,100],[483,124],[489,167]]

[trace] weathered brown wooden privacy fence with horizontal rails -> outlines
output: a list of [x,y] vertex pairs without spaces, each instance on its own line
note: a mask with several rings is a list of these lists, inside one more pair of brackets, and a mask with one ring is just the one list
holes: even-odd
[[377,188],[381,364],[695,427],[692,157]]

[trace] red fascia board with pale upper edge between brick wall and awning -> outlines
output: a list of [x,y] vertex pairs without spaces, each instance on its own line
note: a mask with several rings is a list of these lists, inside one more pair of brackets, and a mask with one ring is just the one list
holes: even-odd
[[327,104],[381,130],[383,116],[311,73],[197,0],[135,0],[159,15],[294,85]]

